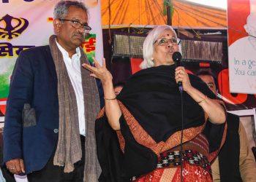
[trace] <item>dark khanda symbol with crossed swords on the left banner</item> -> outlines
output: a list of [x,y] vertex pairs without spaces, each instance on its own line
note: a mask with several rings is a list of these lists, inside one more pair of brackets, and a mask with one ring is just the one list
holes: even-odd
[[[2,27],[4,25],[4,27]],[[0,19],[0,39],[13,39],[20,36],[28,27],[29,21],[20,17],[12,17],[10,15],[4,15]]]

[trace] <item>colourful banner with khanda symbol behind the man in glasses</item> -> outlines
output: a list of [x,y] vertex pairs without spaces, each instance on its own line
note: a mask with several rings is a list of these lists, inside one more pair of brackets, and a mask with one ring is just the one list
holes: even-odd
[[[103,58],[100,0],[84,1],[92,30],[81,45],[92,60]],[[0,0],[0,111],[4,113],[10,78],[20,51],[48,44],[53,34],[53,0]]]

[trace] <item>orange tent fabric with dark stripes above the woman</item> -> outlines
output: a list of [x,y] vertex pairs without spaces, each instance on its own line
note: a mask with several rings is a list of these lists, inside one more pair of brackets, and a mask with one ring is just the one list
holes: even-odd
[[[165,0],[108,0],[101,1],[103,28],[150,26],[167,24],[163,15]],[[184,28],[226,28],[227,13],[190,1],[173,0],[173,26]]]

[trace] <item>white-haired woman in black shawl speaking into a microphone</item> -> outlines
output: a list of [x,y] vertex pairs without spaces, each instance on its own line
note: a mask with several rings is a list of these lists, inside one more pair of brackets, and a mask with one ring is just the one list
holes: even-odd
[[[176,68],[177,51],[173,28],[154,28],[143,44],[143,70],[117,98],[105,60],[102,66],[94,60],[95,68],[83,65],[102,81],[105,94],[96,123],[99,181],[181,181],[181,166],[183,181],[211,181],[209,162],[224,141],[225,108],[197,76]],[[182,147],[178,82],[184,89]]]

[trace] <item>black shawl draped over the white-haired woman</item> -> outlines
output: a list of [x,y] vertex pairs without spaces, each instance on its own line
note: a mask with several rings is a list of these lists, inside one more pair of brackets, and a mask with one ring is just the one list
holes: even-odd
[[[134,117],[156,143],[167,141],[173,133],[181,130],[181,94],[174,74],[175,66],[157,66],[141,70],[128,80],[118,95],[118,100],[129,111],[128,118]],[[216,98],[197,76],[189,74],[189,79],[192,86],[208,98]],[[183,103],[184,129],[205,124],[203,109],[187,92],[183,92]],[[103,111],[97,118],[97,154],[102,167],[99,181],[129,181],[131,176],[146,174],[157,166],[157,154],[135,140],[125,116],[127,113],[123,111],[120,125],[125,141],[124,154],[116,132],[110,128]],[[211,128],[217,130],[212,132]],[[210,142],[210,151],[216,151],[222,141],[224,124],[216,126],[207,122],[205,130],[204,134]]]

